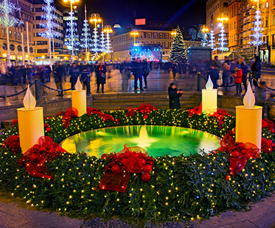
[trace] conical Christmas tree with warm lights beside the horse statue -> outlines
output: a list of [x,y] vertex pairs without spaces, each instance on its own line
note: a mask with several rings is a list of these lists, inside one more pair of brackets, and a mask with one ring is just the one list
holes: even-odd
[[170,48],[169,60],[171,62],[181,62],[184,59],[186,59],[184,37],[181,34],[179,26],[177,26],[177,32],[173,37],[172,47]]

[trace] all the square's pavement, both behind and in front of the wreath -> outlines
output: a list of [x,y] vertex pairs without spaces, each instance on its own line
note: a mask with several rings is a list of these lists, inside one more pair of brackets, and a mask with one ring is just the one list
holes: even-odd
[[[267,82],[268,87],[275,89],[275,70],[263,69],[262,80]],[[69,76],[67,76],[67,81]],[[52,80],[53,81],[53,80]],[[172,73],[164,73],[164,71],[153,70],[150,76],[148,76],[148,89],[145,91],[137,91],[137,93],[157,93],[167,91],[168,85],[171,82],[175,82],[179,89],[184,91],[196,91],[197,90],[197,76],[184,76],[177,75],[177,78],[173,79]],[[201,80],[202,88],[205,86],[205,80]],[[46,83],[48,87],[56,88],[54,82]],[[133,91],[133,78],[129,80],[129,91],[122,92],[122,80],[118,70],[113,70],[110,78],[107,79],[105,87],[105,93],[134,93]],[[25,89],[23,86],[0,86],[0,95],[11,95]],[[63,89],[69,89],[69,82],[63,82]],[[31,88],[34,94],[34,87]],[[235,88],[231,87],[228,91],[224,88],[219,88],[219,94],[234,95]],[[44,100],[63,99],[56,97],[57,92],[49,89],[45,89],[46,95]],[[93,74],[91,80],[91,93],[96,92],[96,80]],[[271,93],[272,91],[268,91]],[[17,97],[6,98],[3,100],[0,98],[1,106],[8,106],[12,104],[22,103],[23,94]],[[70,92],[65,92],[64,98],[69,98]],[[222,228],[272,228],[275,227],[275,195],[265,198],[262,202],[252,204],[251,209],[248,212],[224,212],[219,216],[211,217],[209,220],[202,221],[190,221],[189,225],[186,223],[177,223],[174,225],[161,225],[160,227],[222,227]],[[121,223],[124,224],[124,223]],[[58,213],[50,213],[47,210],[38,210],[36,207],[30,207],[25,204],[21,198],[13,198],[8,192],[0,192],[0,228],[43,228],[43,227],[114,227],[110,222],[100,223],[98,220],[78,220],[72,219],[66,216],[60,216]],[[130,227],[130,226],[120,226]],[[133,226],[138,227],[138,226]]]

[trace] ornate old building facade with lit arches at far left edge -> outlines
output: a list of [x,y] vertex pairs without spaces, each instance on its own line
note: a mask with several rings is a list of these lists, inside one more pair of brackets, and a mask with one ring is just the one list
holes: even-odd
[[[25,62],[28,56],[28,45],[29,41],[29,54],[30,60],[34,59],[34,36],[33,36],[33,23],[34,23],[34,14],[31,10],[31,3],[25,0],[12,1],[17,7],[21,8],[21,12],[17,13],[17,18],[23,21],[23,25],[14,26],[9,28],[9,40],[10,40],[10,59],[12,65],[22,65],[23,60]],[[27,31],[28,30],[28,31]],[[27,36],[28,34],[28,36]],[[4,27],[1,27],[0,32],[0,56],[5,61],[5,58],[8,54],[7,47],[7,34]],[[5,64],[1,62],[1,71],[2,67],[5,67]]]

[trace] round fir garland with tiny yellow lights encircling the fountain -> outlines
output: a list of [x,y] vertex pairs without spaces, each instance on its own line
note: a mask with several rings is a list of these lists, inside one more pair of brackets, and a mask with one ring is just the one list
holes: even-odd
[[[131,117],[126,117],[126,113],[126,110],[108,113],[119,119],[118,123],[109,119],[104,122],[96,114],[72,117],[68,128],[63,126],[63,117],[56,116],[45,119],[51,129],[45,135],[60,143],[86,130],[148,124],[195,128],[224,137],[235,126],[232,116],[224,116],[223,123],[219,123],[214,116],[201,113],[189,117],[188,111],[181,110],[151,111],[146,119],[142,113],[135,112]],[[10,135],[18,135],[17,124],[5,130],[0,144]],[[266,128],[263,137],[274,141],[274,134]],[[63,154],[46,164],[55,176],[49,180],[30,176],[25,167],[17,163],[21,157],[20,153],[14,155],[7,148],[0,149],[0,189],[24,198],[30,205],[74,218],[118,215],[152,222],[208,218],[225,209],[245,209],[248,203],[274,192],[275,187],[274,152],[262,152],[259,159],[248,161],[245,168],[228,181],[225,177],[230,161],[225,152],[157,157],[151,181],[144,183],[141,174],[132,174],[126,193],[98,190],[108,160],[83,153]]]

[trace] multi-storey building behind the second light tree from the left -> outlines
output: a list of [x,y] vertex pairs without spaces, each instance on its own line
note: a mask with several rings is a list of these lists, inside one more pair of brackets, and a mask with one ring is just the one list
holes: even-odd
[[[41,37],[40,33],[45,31],[45,28],[41,24],[46,23],[45,20],[41,19],[41,16],[45,14],[42,9],[43,4],[33,4],[32,10],[34,12],[34,53],[36,59],[49,58],[50,52],[57,55],[60,54],[63,49],[64,35],[63,35],[63,13],[59,10],[55,10],[57,18],[54,20],[58,24],[58,27],[55,27],[54,30],[60,34],[59,37],[56,37],[51,41],[51,50],[50,50],[50,41],[49,38]],[[54,53],[53,53],[54,47]]]

